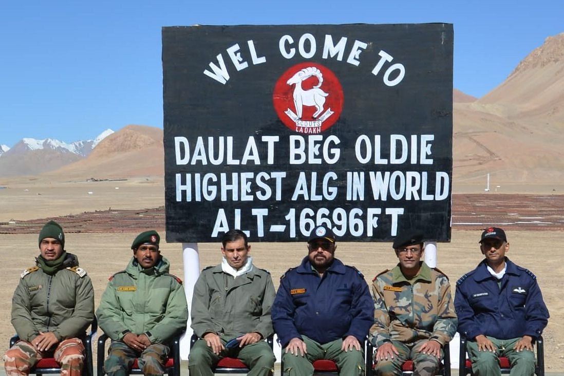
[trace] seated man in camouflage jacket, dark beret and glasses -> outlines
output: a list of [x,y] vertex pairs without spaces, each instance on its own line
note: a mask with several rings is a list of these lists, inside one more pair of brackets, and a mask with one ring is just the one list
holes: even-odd
[[408,359],[413,360],[414,374],[436,374],[442,346],[448,346],[456,332],[451,286],[447,276],[421,261],[422,240],[418,231],[398,235],[393,247],[399,264],[374,277],[370,333],[377,347],[377,375],[402,375]]

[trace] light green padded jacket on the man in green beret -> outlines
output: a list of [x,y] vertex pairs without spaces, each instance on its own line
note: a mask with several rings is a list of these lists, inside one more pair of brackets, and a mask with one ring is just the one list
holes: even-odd
[[124,271],[110,278],[96,310],[98,325],[109,338],[121,340],[131,332],[163,343],[186,329],[186,295],[169,267],[161,256],[155,266],[143,269],[133,257]]

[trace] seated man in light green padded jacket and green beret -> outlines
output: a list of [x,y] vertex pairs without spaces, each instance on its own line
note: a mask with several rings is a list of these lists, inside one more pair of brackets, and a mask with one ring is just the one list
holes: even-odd
[[144,375],[164,374],[171,338],[186,329],[188,306],[179,278],[158,248],[154,230],[140,233],[133,258],[114,274],[96,311],[98,325],[112,339],[104,362],[110,375],[126,375],[135,359]]

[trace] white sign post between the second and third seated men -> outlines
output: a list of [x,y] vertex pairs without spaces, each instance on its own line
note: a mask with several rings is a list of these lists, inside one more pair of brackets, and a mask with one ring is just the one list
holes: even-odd
[[[182,243],[182,261],[184,264],[184,294],[186,294],[188,313],[190,313],[194,285],[200,276],[200,255],[197,243]],[[180,338],[180,359],[182,360],[188,360],[188,354],[190,353],[190,338],[193,333],[190,327],[191,323],[192,319],[188,315],[186,333]]]

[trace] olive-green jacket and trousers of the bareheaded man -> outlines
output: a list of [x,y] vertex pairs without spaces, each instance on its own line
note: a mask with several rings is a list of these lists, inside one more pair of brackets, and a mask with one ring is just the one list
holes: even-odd
[[[269,337],[274,333],[270,318],[274,295],[270,273],[263,269],[253,266],[233,278],[223,272],[221,264],[206,268],[194,286],[192,329],[198,337],[215,333],[224,345],[246,333]],[[213,375],[211,368],[224,356],[243,361],[250,368],[249,375],[270,375],[274,368],[274,353],[264,341],[226,349],[217,356],[205,340],[197,340],[188,358],[190,376]]]

